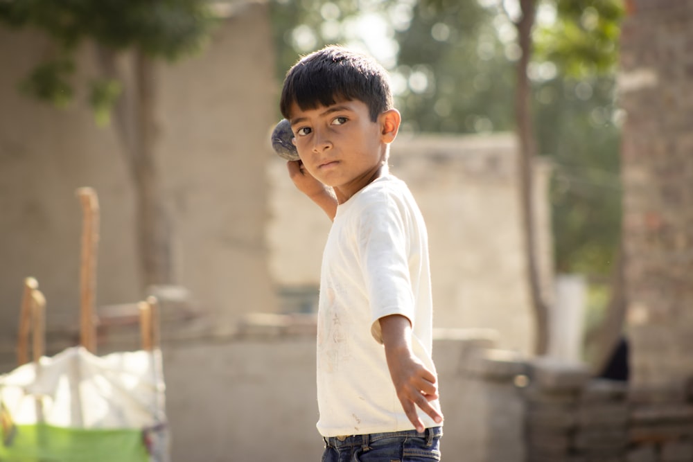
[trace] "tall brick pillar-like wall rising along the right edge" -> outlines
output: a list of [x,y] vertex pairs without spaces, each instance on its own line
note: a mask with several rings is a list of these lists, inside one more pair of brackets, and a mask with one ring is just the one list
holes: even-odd
[[693,3],[627,3],[618,87],[631,388],[683,405],[693,376]]

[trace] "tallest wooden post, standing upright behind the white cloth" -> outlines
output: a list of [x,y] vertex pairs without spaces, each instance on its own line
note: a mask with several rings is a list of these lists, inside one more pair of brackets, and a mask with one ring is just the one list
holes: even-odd
[[80,345],[96,353],[96,256],[99,238],[99,208],[92,188],[79,188],[82,204],[82,257],[80,259]]

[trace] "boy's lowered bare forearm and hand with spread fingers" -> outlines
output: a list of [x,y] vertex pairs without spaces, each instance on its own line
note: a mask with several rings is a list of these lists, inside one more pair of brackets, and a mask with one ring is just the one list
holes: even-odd
[[443,416],[430,404],[438,399],[437,378],[414,356],[409,319],[393,314],[380,318],[379,322],[387,367],[405,414],[417,432],[423,432],[423,422],[416,414],[417,406],[436,423],[441,423]]

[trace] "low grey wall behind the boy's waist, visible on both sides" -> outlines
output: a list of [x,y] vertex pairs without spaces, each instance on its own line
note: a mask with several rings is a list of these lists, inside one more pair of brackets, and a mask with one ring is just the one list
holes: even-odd
[[[523,462],[523,404],[510,375],[489,378],[482,373],[488,367],[472,367],[494,337],[448,332],[435,340],[444,460],[465,454],[466,462]],[[232,341],[166,345],[164,357],[166,396],[176,402],[168,407],[174,462],[320,459],[314,335],[256,331]]]

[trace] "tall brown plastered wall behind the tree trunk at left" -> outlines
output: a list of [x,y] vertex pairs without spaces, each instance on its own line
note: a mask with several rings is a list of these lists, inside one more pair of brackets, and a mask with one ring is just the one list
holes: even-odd
[[[213,335],[233,332],[246,312],[276,310],[262,231],[264,171],[271,155],[267,130],[277,96],[267,8],[238,2],[204,53],[158,66],[155,154],[173,223],[176,282],[191,292]],[[247,39],[251,35],[255,38]],[[97,305],[143,296],[134,195],[116,131],[96,127],[83,88],[65,110],[17,92],[17,82],[49,49],[37,33],[0,29],[4,352],[13,348],[26,276],[37,278],[48,299],[49,337],[73,338],[81,226],[75,190],[80,186],[96,188],[100,199]],[[91,47],[82,47],[78,58],[78,82],[83,82],[97,72]],[[128,57],[121,62],[127,65]]]

